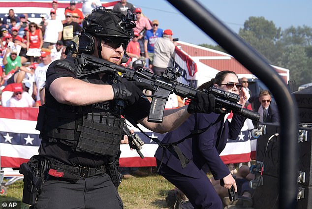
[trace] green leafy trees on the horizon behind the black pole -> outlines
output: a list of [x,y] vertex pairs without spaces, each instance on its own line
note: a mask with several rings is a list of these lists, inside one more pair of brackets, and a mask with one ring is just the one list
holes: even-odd
[[[281,30],[273,21],[251,16],[238,34],[271,64],[289,69],[290,80],[297,85],[312,82],[312,28],[292,26]],[[220,46],[201,46],[224,52]]]

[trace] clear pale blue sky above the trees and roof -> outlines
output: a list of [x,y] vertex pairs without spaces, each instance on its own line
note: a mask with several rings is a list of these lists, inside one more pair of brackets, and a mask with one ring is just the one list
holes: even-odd
[[[150,19],[159,21],[159,28],[171,29],[174,37],[192,44],[216,44],[166,0],[128,0]],[[227,27],[238,32],[250,16],[263,16],[276,27],[312,27],[312,0],[199,0],[206,9]],[[194,14],[195,15],[195,14]]]

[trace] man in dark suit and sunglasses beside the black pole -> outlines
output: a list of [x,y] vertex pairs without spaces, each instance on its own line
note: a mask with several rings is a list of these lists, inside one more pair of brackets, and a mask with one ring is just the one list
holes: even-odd
[[261,103],[258,113],[260,122],[280,122],[280,116],[277,106],[271,102],[271,93],[268,90],[261,90],[259,93],[259,102]]

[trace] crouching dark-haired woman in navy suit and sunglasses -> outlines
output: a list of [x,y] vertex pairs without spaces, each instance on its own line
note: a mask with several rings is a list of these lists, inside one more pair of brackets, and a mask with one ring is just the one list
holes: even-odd
[[[221,71],[215,79],[198,89],[209,87],[240,94],[238,103],[244,107],[245,91],[238,83],[235,72]],[[222,202],[206,175],[207,168],[214,179],[223,179],[225,188],[231,188],[233,185],[237,191],[235,179],[220,159],[219,153],[224,149],[228,139],[237,138],[246,118],[234,114],[229,122],[226,119],[227,116],[217,113],[193,114],[179,128],[167,133],[162,140],[163,143],[177,142],[186,137],[191,130],[211,125],[205,132],[193,135],[178,144],[183,154],[189,159],[185,168],[182,168],[177,155],[168,149],[159,147],[156,150],[158,173],[184,192],[195,209],[222,209]]]

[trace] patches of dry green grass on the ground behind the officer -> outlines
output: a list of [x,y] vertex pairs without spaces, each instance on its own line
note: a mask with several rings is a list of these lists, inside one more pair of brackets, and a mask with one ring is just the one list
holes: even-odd
[[[152,174],[148,177],[123,179],[118,188],[125,209],[166,209],[165,197],[175,186],[163,177]],[[7,194],[0,196],[2,201],[22,201],[23,181],[16,181],[7,188]],[[22,203],[21,209],[29,206]]]

